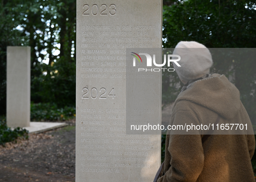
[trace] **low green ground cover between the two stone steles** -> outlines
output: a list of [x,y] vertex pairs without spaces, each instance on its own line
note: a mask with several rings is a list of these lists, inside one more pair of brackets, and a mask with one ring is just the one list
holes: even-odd
[[30,119],[33,121],[41,120],[62,120],[72,119],[75,117],[75,107],[59,108],[56,104],[38,103],[31,104]]

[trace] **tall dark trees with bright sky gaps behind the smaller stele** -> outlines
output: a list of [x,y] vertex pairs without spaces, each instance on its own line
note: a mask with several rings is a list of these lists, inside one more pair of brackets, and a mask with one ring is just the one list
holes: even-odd
[[7,46],[31,46],[34,103],[75,106],[76,1],[2,0],[0,15],[0,114],[6,113]]

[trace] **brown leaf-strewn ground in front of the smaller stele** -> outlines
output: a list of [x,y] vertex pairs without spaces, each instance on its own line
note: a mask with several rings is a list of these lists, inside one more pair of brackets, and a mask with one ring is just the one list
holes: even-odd
[[75,182],[75,120],[0,146],[0,182]]

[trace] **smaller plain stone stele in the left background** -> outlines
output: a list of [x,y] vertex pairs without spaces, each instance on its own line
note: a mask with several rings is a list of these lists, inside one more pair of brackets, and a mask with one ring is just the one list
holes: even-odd
[[7,47],[6,97],[7,126],[29,126],[30,47]]

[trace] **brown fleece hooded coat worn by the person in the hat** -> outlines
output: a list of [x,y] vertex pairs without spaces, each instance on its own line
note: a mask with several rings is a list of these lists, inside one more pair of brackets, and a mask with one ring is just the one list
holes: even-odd
[[[166,136],[165,175],[157,182],[255,182],[251,159],[255,149],[250,118],[237,88],[224,75],[213,74],[181,92],[172,110],[170,124],[243,123],[241,135]],[[250,129],[251,130],[250,130]],[[173,133],[172,133],[173,132]],[[230,131],[225,131],[233,134]]]

